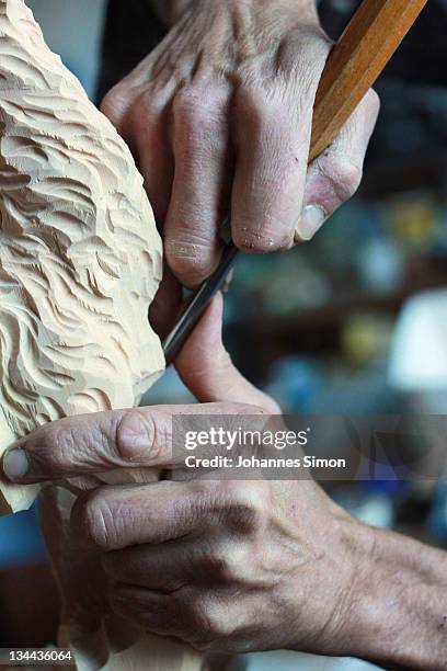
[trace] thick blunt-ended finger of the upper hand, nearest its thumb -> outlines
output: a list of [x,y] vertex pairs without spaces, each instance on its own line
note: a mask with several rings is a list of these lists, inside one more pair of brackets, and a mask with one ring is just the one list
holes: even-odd
[[249,252],[289,249],[305,187],[307,134],[278,95],[243,91],[237,101],[237,168],[232,191],[234,243]]

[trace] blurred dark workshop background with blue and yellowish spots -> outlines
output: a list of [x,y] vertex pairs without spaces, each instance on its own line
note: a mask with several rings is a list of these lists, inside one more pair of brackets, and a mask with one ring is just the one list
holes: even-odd
[[[147,3],[112,2],[102,60],[105,0],[27,3],[96,101],[162,34]],[[335,38],[358,2],[320,4]],[[432,0],[377,84],[358,194],[311,243],[239,261],[226,341],[288,413],[447,413],[446,34],[447,0]],[[170,369],[147,400],[188,396]],[[332,484],[331,493],[371,524],[447,547],[443,480]],[[0,647],[54,640],[57,596],[36,519],[0,520]]]

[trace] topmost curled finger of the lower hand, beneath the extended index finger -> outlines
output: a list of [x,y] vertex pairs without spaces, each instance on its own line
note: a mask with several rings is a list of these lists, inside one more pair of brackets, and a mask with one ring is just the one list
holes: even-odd
[[105,486],[81,494],[71,514],[74,536],[85,546],[111,551],[161,544],[200,533],[226,514],[213,500],[209,481]]

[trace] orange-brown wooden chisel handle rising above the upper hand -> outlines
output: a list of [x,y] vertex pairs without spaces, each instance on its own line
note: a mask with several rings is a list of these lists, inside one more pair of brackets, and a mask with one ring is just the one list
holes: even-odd
[[309,162],[329,147],[427,0],[364,0],[333,47],[317,92]]

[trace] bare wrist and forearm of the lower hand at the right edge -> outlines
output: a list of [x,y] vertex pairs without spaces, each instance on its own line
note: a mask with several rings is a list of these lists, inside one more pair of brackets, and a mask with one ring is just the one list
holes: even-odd
[[447,669],[447,554],[383,530],[370,538],[353,578],[348,653],[392,668]]

